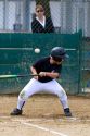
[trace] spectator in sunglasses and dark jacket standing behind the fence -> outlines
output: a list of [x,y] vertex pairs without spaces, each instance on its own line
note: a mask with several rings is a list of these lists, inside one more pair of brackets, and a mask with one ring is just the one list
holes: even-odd
[[54,33],[54,26],[51,17],[46,17],[44,10],[41,4],[36,5],[36,17],[31,22],[33,33]]

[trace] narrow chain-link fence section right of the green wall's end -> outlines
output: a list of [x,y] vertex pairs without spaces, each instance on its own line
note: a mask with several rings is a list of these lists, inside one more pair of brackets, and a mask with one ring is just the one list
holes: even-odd
[[81,88],[90,92],[90,38],[83,38],[81,45]]

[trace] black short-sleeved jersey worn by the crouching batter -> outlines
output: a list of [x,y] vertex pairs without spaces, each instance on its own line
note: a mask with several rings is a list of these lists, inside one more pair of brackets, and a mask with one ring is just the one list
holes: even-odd
[[[57,72],[61,73],[62,70],[62,64],[51,64],[50,63],[50,57],[43,58],[38,60],[33,66],[36,69],[37,73],[39,74],[40,72]],[[47,83],[52,81],[53,78],[49,76],[39,76],[38,81],[41,83]]]

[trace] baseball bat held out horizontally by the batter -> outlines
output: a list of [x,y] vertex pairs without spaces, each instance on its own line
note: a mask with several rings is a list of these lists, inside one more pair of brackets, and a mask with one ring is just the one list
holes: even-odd
[[26,74],[26,75],[0,75],[0,79],[3,78],[17,78],[17,77],[27,77],[27,76],[38,76],[39,74]]

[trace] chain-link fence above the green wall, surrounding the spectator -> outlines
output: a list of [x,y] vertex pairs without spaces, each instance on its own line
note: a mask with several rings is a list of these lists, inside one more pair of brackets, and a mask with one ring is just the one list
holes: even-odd
[[56,33],[82,29],[90,36],[90,0],[0,0],[0,32],[31,32],[36,3],[42,3]]

